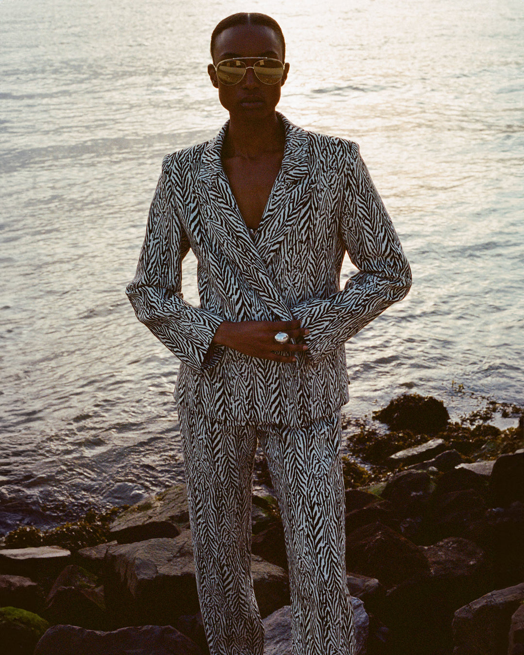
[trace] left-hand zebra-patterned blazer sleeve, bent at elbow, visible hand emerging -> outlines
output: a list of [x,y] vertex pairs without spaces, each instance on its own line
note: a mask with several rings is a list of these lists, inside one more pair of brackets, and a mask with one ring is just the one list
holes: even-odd
[[138,320],[182,362],[200,370],[220,358],[221,348],[211,342],[223,318],[189,305],[181,293],[181,263],[189,240],[174,203],[171,157],[162,162],[138,267],[126,294]]

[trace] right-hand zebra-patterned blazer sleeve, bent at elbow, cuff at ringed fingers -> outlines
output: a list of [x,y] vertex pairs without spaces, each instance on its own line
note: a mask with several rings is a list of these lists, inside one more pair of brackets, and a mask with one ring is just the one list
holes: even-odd
[[358,272],[345,288],[327,298],[312,298],[293,307],[313,364],[348,341],[411,287],[411,270],[381,197],[350,143],[344,179],[340,234]]

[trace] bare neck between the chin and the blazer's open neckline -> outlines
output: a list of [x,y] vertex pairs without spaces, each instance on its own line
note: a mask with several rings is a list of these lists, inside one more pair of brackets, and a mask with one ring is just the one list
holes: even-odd
[[284,152],[284,126],[276,113],[257,121],[230,117],[222,157],[256,159],[276,152]]

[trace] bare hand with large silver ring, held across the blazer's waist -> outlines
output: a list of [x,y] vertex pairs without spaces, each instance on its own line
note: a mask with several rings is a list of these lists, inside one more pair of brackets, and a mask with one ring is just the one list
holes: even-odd
[[[277,343],[274,335],[286,332],[290,339],[300,339],[309,334],[309,329],[300,327],[300,321],[224,321],[218,326],[213,342],[243,352],[250,357],[275,362],[296,362],[294,352],[303,352],[307,346],[293,343]],[[279,351],[279,352],[274,352]]]

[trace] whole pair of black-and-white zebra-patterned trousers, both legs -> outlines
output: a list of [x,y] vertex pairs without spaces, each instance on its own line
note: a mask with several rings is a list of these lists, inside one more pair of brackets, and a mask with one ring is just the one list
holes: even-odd
[[293,655],[355,655],[340,411],[302,428],[238,425],[183,408],[179,419],[196,584],[211,655],[263,655],[251,575],[257,440],[284,523]]

